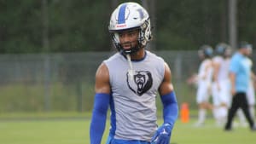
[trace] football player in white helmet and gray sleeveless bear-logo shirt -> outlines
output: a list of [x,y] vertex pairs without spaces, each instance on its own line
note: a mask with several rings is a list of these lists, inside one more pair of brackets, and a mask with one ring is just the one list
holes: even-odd
[[[151,38],[148,12],[138,3],[121,3],[111,15],[108,30],[118,52],[96,72],[90,143],[101,143],[110,107],[107,144],[169,144],[177,99],[169,66],[145,49]],[[157,93],[163,104],[160,126],[156,123]]]

